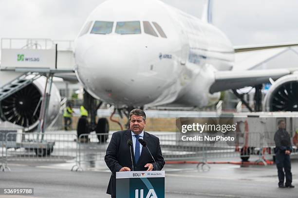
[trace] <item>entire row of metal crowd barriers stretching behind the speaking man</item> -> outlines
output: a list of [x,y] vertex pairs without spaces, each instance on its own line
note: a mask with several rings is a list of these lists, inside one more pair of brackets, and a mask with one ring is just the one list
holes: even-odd
[[[251,157],[255,163],[267,164],[267,159],[274,157],[274,146],[265,144],[262,133],[250,133],[249,141],[240,141],[239,145],[226,142],[185,142],[177,139],[177,133],[154,133],[160,139],[165,161],[193,161],[200,170],[209,170],[210,162],[223,162],[224,159],[242,159]],[[81,171],[84,167],[104,166],[104,156],[109,143],[109,134],[81,134],[78,138],[75,131],[46,133],[0,132],[0,170],[10,170],[8,162],[72,162],[72,171]],[[111,135],[110,135],[111,137]],[[291,155],[297,155],[297,148]],[[238,161],[239,161],[238,160]]]

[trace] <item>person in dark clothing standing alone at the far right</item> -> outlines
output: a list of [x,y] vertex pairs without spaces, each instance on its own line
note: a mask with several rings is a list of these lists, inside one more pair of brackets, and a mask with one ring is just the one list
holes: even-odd
[[[279,129],[274,135],[276,166],[279,176],[279,188],[294,188],[292,185],[291,160],[292,145],[289,133],[285,130],[286,124],[284,120],[279,120]],[[283,172],[284,169],[284,172]],[[284,176],[286,178],[284,184]]]

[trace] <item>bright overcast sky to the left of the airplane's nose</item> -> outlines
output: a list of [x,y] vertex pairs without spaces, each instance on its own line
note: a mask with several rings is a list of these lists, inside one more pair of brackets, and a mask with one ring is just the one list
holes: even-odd
[[103,0],[1,0],[0,37],[74,39]]

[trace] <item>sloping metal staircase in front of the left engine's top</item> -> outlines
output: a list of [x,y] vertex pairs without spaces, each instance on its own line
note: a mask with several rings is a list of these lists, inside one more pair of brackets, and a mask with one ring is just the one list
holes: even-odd
[[0,88],[0,102],[8,96],[31,84],[40,76],[41,75],[36,72],[27,72],[20,75],[18,78],[12,80],[11,82],[5,84]]

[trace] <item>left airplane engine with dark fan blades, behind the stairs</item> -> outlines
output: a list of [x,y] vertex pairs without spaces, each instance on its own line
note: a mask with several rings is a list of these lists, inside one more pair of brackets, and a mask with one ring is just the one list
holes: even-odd
[[[24,126],[26,132],[35,130],[38,126],[45,83],[46,77],[41,76],[33,83],[2,100],[0,102],[1,120]],[[50,125],[59,113],[60,101],[59,90],[52,84],[46,126]]]

